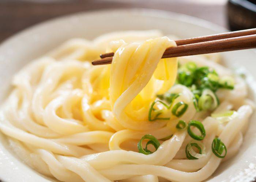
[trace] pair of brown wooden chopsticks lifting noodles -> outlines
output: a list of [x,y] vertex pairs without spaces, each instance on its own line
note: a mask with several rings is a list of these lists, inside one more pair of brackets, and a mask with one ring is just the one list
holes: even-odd
[[[256,48],[256,28],[177,40],[176,44],[177,47],[167,48],[162,58]],[[102,54],[102,59],[94,60],[92,64],[111,64],[112,56],[114,52]]]

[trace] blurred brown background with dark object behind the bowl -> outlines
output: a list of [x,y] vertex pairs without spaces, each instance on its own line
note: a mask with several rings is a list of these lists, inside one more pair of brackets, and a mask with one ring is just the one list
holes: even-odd
[[162,9],[231,30],[256,28],[256,0],[0,0],[0,42],[57,16],[111,8]]

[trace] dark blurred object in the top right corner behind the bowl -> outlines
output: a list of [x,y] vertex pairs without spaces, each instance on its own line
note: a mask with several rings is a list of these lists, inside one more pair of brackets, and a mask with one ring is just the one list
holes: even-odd
[[229,0],[227,18],[231,31],[256,28],[256,0]]

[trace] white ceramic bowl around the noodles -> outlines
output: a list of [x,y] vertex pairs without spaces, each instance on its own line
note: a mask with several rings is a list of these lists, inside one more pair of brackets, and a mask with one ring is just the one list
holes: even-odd
[[[22,31],[0,45],[0,100],[7,96],[10,81],[25,64],[73,37],[94,39],[112,31],[160,29],[165,34],[181,38],[210,35],[227,31],[212,23],[186,15],[158,10],[123,9],[77,13],[46,21]],[[225,52],[225,64],[244,66],[252,75],[250,98],[255,101],[256,52],[253,50]],[[253,89],[254,88],[254,89]],[[244,143],[236,157],[219,166],[210,181],[249,181],[256,176],[256,115],[254,114],[245,135]],[[250,178],[251,177],[251,178]],[[0,133],[0,179],[11,182],[48,181],[16,158]],[[52,181],[52,180],[51,180]],[[235,180],[236,181],[236,180]]]

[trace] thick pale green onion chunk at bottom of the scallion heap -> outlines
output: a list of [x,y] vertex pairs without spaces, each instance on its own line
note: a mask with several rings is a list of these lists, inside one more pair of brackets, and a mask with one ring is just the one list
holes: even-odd
[[198,100],[198,106],[200,110],[214,110],[219,105],[219,99],[217,95],[210,89],[204,89],[202,95]]

